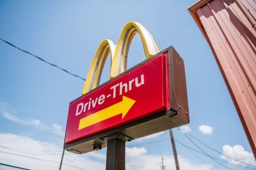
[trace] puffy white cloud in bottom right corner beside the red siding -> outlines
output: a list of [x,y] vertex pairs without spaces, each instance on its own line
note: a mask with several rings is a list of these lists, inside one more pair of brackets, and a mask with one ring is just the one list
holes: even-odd
[[[224,145],[222,146],[222,153],[223,155],[220,156],[221,159],[227,160],[229,164],[234,165],[244,165],[242,162],[246,164],[252,164],[256,166],[255,159],[253,157],[253,153],[247,152],[244,150],[244,147],[241,145]],[[237,161],[239,160],[239,161]]]

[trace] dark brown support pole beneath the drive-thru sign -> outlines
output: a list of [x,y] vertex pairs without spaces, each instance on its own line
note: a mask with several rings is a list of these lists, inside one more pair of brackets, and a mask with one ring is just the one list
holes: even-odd
[[108,137],[106,170],[125,170],[125,140]]

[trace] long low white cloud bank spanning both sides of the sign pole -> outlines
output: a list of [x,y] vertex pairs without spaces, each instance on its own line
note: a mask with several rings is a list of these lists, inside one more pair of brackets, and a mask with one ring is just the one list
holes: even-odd
[[[7,146],[10,148],[8,149],[0,147],[0,160],[4,164],[38,170],[58,169],[60,166],[58,162],[61,160],[62,145],[60,146],[53,145],[51,143],[44,143],[16,134],[0,133],[0,146]],[[26,155],[29,157],[36,157],[38,159],[53,160],[54,162],[29,159],[3,152]],[[126,156],[125,167],[127,170],[160,169],[162,155],[153,155],[147,153],[145,148],[126,148]],[[83,169],[105,169],[106,153],[104,153],[104,151],[98,151],[85,153],[84,155],[77,155],[75,153],[65,152],[63,162],[66,163],[63,164],[63,167],[61,168],[63,170],[76,169],[74,167],[67,166],[67,164],[81,167]],[[196,164],[195,162],[189,161],[184,157],[179,157],[179,162],[180,169],[215,170],[212,164]],[[175,169],[175,163],[172,156],[164,155],[164,166],[166,166],[166,169]]]

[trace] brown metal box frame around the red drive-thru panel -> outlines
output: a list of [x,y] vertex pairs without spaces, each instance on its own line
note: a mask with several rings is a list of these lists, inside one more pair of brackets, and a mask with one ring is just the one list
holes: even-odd
[[[78,141],[74,141],[72,143],[64,143],[64,149],[68,150],[69,152],[82,154],[86,152],[91,152],[93,150],[105,148],[108,144],[109,136],[113,136],[113,134],[116,135],[116,138],[122,138],[122,140],[124,141],[131,141],[132,139],[137,139],[138,136],[140,136],[139,138],[141,138],[143,136],[154,134],[156,132],[161,132],[166,129],[171,129],[179,125],[188,124],[189,110],[184,61],[180,57],[179,53],[175,51],[173,46],[170,46],[165,50],[156,53],[156,55],[153,55],[149,59],[144,60],[143,62],[137,64],[134,67],[131,67],[130,69],[124,71],[115,78],[106,81],[106,83],[103,83],[99,87],[90,90],[90,92],[84,94],[83,96],[94,92],[100,87],[107,85],[109,82],[116,80],[120,76],[123,76],[129,71],[136,69],[136,67],[145,64],[146,62],[158,57],[163,53],[166,53],[168,55],[167,58],[169,68],[168,71],[170,89],[170,110],[161,111],[148,117],[141,118],[140,120],[136,120],[125,125],[120,125],[119,127],[115,127],[114,129],[100,132],[99,134],[95,134],[84,139],[79,139]],[[81,99],[81,97],[83,96],[78,97],[74,101]],[[70,103],[73,103],[74,101]],[[157,126],[157,128],[156,126],[152,127],[152,124],[159,124],[159,126]],[[139,134],[132,134],[132,131],[134,129],[140,129],[140,132],[138,132]]]

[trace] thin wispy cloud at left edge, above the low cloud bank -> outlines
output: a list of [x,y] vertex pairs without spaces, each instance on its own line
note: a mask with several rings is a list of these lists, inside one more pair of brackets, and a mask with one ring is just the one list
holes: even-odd
[[4,118],[6,118],[12,122],[15,122],[15,123],[18,123],[21,125],[33,125],[40,129],[51,130],[52,132],[54,132],[54,134],[57,134],[58,136],[64,136],[64,131],[63,131],[61,125],[52,124],[51,126],[49,126],[35,118],[33,118],[33,119],[20,118],[17,116],[16,111],[10,110],[8,108],[7,104],[4,104],[4,103],[0,103],[0,111]]

